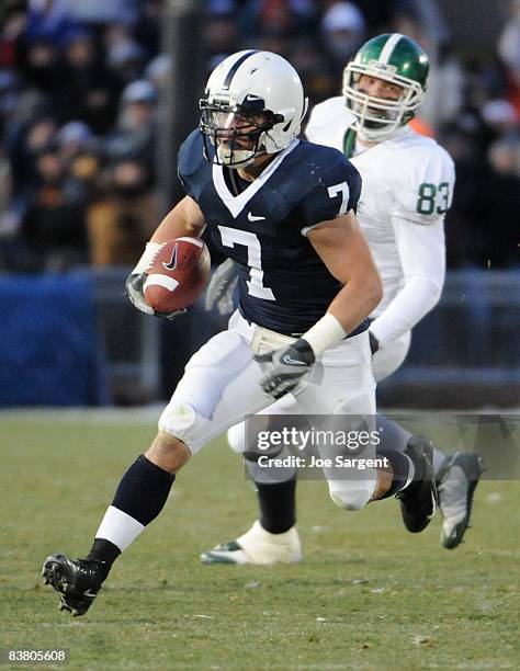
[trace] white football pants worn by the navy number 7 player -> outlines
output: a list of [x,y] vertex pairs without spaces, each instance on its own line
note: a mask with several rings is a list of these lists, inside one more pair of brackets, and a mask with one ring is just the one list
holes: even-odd
[[[238,311],[227,331],[213,337],[188,362],[170,402],[159,418],[159,431],[199,452],[230,425],[273,406],[259,385],[262,368],[253,354],[286,346],[295,339],[246,321]],[[327,350],[313,366],[301,390],[295,414],[375,414],[375,380],[369,333],[364,331]],[[271,412],[274,413],[274,412]],[[244,433],[244,431],[242,431]],[[357,457],[373,458],[371,444]],[[360,479],[334,479],[324,469],[332,500],[349,510],[363,508],[376,482],[366,468]],[[328,476],[328,477],[327,477]]]

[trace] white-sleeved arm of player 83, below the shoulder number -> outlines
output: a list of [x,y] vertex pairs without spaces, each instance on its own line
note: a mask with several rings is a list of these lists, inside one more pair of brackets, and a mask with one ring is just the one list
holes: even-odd
[[[444,221],[392,217],[405,284],[371,323],[373,351],[412,329],[439,302],[445,275]],[[374,342],[375,339],[375,342]]]

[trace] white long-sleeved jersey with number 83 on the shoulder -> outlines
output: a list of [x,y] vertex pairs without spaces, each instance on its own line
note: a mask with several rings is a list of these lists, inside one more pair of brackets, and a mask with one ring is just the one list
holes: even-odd
[[[314,107],[306,136],[346,151],[353,121],[344,99],[331,98]],[[408,126],[351,161],[363,180],[358,218],[383,281],[371,327],[383,345],[409,331],[440,297],[443,219],[453,197],[454,167],[442,147]]]

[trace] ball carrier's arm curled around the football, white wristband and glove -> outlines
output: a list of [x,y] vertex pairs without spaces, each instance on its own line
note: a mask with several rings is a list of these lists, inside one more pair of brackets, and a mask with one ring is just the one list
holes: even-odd
[[[158,254],[161,244],[174,238],[191,237],[199,238],[204,231],[204,217],[199,205],[190,196],[184,196],[171,209],[157,227],[155,234],[147,242],[142,258],[126,280],[126,294],[131,303],[142,312],[158,315],[145,300],[143,286],[146,271],[150,268]],[[177,312],[159,315],[172,318]]]

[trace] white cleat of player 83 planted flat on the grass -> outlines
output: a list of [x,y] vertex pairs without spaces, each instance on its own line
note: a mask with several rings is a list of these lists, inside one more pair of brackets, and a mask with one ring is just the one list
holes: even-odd
[[203,564],[271,564],[301,561],[302,545],[298,532],[292,526],[283,534],[267,532],[257,520],[249,531],[236,541],[221,543],[202,553]]

